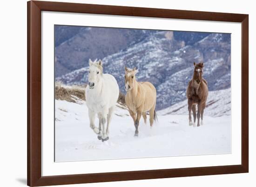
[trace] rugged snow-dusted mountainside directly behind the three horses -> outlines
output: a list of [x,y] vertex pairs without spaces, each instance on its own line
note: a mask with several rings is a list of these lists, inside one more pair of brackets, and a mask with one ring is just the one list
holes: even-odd
[[[172,31],[147,34],[143,40],[103,58],[104,73],[115,76],[124,93],[124,67],[138,67],[138,81],[150,81],[157,90],[157,110],[186,99],[186,88],[193,75],[193,61],[204,61],[203,77],[209,90],[230,87],[230,34],[211,33],[200,41],[186,45],[176,40]],[[85,67],[57,77],[64,84],[85,84]]]

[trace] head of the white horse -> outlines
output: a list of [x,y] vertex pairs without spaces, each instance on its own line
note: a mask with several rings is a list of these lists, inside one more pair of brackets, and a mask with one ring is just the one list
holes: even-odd
[[101,60],[97,61],[94,60],[94,62],[89,59],[89,75],[88,75],[88,80],[89,80],[89,88],[93,89],[95,86],[97,86],[97,83],[101,80],[101,76],[103,73],[103,67],[102,67],[102,62]]

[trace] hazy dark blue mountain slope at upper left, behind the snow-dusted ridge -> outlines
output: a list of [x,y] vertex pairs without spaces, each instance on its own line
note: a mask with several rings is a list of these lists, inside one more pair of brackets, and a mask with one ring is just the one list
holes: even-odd
[[143,40],[150,30],[55,26],[55,75],[88,65]]

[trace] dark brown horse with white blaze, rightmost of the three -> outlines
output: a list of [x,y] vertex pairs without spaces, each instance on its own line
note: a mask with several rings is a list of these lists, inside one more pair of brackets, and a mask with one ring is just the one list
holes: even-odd
[[[189,81],[187,88],[187,98],[188,98],[188,109],[189,109],[189,125],[194,125],[196,120],[196,109],[195,105],[197,104],[197,127],[200,126],[200,115],[201,115],[201,125],[203,111],[206,105],[206,100],[208,97],[208,85],[207,81],[202,78],[202,68],[203,63],[196,64],[194,62],[194,75],[193,79]],[[191,119],[191,109],[193,111],[194,123]]]

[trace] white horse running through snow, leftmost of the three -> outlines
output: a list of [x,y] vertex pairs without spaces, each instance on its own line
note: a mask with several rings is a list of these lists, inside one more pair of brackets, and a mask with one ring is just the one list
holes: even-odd
[[[89,112],[90,127],[98,134],[98,139],[108,140],[109,123],[119,96],[119,87],[115,77],[103,74],[101,60],[89,60],[88,86],[86,87],[86,104]],[[95,114],[99,118],[99,127],[95,127]],[[107,127],[105,127],[107,121]]]

